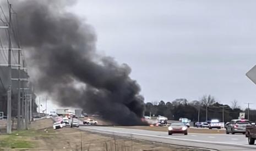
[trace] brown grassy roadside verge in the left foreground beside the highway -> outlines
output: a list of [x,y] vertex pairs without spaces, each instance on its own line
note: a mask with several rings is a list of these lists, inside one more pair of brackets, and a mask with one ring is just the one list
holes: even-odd
[[51,126],[51,119],[43,119],[33,122],[31,129],[28,131],[19,131],[14,132],[12,135],[3,135],[3,137],[0,137],[0,142],[7,138],[10,139],[11,137],[13,140],[22,144],[16,143],[12,147],[0,146],[0,150],[201,150],[80,131],[79,129],[70,127],[53,130]]

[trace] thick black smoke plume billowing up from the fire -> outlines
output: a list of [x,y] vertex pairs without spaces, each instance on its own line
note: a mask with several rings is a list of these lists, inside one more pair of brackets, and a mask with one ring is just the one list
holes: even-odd
[[[68,3],[67,3],[68,2]],[[94,29],[66,11],[74,1],[14,1],[20,39],[37,90],[62,106],[81,107],[120,125],[141,124],[144,98],[128,65],[97,55]],[[35,74],[34,74],[35,75]]]

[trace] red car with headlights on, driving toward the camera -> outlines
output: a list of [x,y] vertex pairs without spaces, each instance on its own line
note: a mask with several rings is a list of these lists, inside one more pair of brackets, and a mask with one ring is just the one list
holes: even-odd
[[168,135],[172,135],[173,133],[184,133],[184,135],[188,135],[188,128],[181,122],[171,123],[168,127]]

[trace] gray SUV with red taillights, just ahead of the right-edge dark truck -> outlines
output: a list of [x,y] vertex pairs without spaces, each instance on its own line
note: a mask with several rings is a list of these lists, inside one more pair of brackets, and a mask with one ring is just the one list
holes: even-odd
[[228,133],[243,133],[246,134],[246,126],[250,125],[248,120],[244,119],[234,119],[227,124],[226,134]]

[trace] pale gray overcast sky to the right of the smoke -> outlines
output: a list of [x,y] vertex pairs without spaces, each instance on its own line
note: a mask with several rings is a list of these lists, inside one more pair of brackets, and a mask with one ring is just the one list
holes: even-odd
[[[256,1],[78,1],[70,9],[97,33],[99,53],[132,67],[146,102],[255,102]],[[256,108],[256,103],[252,105]]]

